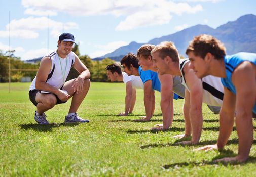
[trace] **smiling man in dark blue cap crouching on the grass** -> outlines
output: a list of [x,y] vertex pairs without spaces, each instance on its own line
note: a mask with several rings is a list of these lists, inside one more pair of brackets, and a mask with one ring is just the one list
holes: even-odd
[[[36,106],[34,120],[39,124],[49,124],[45,112],[57,104],[65,103],[71,97],[65,123],[89,122],[76,113],[89,90],[90,71],[72,52],[74,43],[74,35],[61,34],[57,50],[42,58],[36,77],[29,87],[29,99]],[[71,67],[80,75],[66,81]]]

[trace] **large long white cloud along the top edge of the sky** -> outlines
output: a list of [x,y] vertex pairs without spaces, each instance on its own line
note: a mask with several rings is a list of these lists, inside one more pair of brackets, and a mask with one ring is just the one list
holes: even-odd
[[190,6],[188,3],[176,3],[173,0],[74,0],[72,4],[69,0],[23,0],[22,5],[25,8],[31,7],[41,11],[61,11],[75,16],[108,14],[125,16],[125,20],[121,21],[116,27],[118,31],[135,29],[141,26],[167,24],[170,22],[172,14],[182,15],[203,10],[201,5]]

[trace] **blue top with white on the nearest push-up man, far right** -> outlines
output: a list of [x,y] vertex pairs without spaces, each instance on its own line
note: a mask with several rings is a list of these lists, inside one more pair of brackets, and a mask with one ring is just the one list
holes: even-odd
[[[256,54],[248,52],[240,52],[234,55],[226,55],[224,57],[224,65],[226,69],[226,78],[222,78],[222,84],[230,90],[232,93],[236,94],[236,88],[231,81],[231,76],[235,68],[242,62],[249,61],[256,65]],[[256,102],[254,104],[253,110],[256,113]]]

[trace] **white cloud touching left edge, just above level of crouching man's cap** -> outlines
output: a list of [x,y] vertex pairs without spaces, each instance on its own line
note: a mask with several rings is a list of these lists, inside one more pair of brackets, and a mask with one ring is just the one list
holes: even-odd
[[26,39],[38,38],[39,34],[36,31],[47,29],[51,30],[51,35],[58,37],[63,29],[77,29],[78,24],[74,22],[57,22],[47,17],[28,17],[19,20],[12,20],[10,24],[6,25],[5,31],[0,31],[0,37],[10,36],[20,37]]

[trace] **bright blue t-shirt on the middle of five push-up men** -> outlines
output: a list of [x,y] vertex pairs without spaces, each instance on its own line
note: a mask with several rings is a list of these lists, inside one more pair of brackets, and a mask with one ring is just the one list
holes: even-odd
[[[161,83],[159,81],[159,78],[156,72],[151,70],[143,71],[140,66],[138,68],[138,72],[143,84],[145,84],[146,81],[151,80],[152,82],[151,88],[153,90],[161,92]],[[177,94],[174,93],[173,99],[177,100],[178,98],[182,98],[182,97],[179,97]]]

